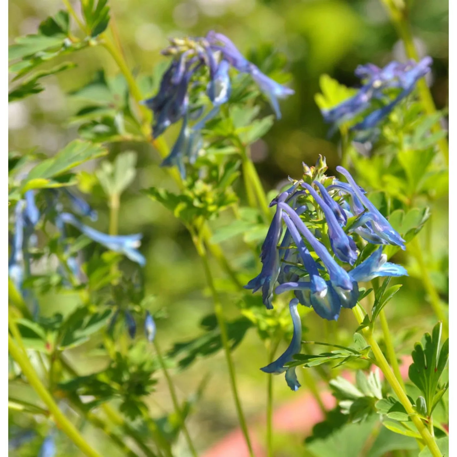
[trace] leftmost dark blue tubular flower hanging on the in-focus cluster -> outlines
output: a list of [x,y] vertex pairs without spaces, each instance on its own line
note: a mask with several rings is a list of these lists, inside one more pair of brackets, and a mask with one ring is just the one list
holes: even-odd
[[262,270],[260,274],[244,286],[245,289],[252,289],[253,293],[262,287],[263,303],[267,309],[273,309],[271,300],[273,298],[275,283],[280,273],[277,245],[281,237],[281,214],[282,210],[278,208],[271,221],[270,228],[268,228],[265,241],[262,244],[260,252]]

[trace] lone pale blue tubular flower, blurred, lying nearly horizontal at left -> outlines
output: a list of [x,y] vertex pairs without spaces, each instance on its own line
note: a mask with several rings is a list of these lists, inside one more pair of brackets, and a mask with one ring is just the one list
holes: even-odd
[[100,243],[112,251],[120,252],[126,255],[130,260],[137,262],[141,266],[146,264],[146,259],[136,249],[141,244],[141,238],[143,237],[142,234],[113,236],[104,234],[95,228],[84,225],[77,218],[75,218],[73,214],[62,213],[60,218],[64,223],[73,225],[96,243]]

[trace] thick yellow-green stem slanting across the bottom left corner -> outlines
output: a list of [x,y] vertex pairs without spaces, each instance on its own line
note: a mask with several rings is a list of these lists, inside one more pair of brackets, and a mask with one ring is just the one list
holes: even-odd
[[38,394],[40,399],[43,400],[43,403],[49,409],[49,412],[53,415],[53,420],[58,425],[58,427],[74,442],[76,446],[88,457],[101,457],[101,455],[96,452],[90,445],[85,441],[83,436],[80,435],[80,432],[76,427],[65,417],[65,415],[60,411],[57,404],[54,402],[51,394],[48,392],[35,372],[32,364],[28,360],[24,352],[16,345],[15,341],[11,338],[11,335],[8,335],[8,351],[10,352],[13,359],[17,362],[19,367],[21,367],[22,372],[27,377],[28,382]]

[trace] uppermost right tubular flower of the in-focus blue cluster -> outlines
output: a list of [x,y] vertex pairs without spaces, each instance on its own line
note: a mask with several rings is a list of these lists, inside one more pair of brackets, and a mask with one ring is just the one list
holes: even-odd
[[375,207],[372,202],[370,202],[370,200],[368,200],[368,198],[360,191],[359,186],[357,186],[356,181],[354,181],[354,178],[351,176],[349,171],[340,165],[336,167],[336,170],[345,176],[352,187],[352,191],[359,198],[363,206],[368,209],[369,213],[367,213],[366,217],[370,218],[370,227],[373,229],[374,233],[380,238],[386,240],[389,244],[400,246],[401,249],[405,250],[404,239],[396,230],[393,229],[388,220],[379,212],[377,207]]

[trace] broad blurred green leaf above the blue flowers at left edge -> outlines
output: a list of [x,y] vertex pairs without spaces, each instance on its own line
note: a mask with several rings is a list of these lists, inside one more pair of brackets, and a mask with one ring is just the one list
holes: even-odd
[[[87,141],[74,140],[67,144],[54,157],[43,160],[43,162],[32,168],[27,178],[21,183],[21,191],[27,188],[27,184],[32,180],[51,180],[59,175],[63,175],[77,165],[106,154],[107,150],[99,145]],[[43,184],[43,181],[39,182]],[[41,185],[41,187],[45,186]]]

